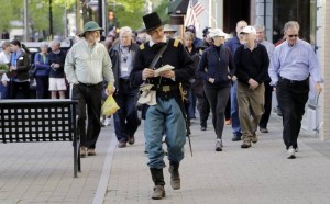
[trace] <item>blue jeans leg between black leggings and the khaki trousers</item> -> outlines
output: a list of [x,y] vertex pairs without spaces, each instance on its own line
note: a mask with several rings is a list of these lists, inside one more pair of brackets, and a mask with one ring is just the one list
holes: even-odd
[[234,135],[242,135],[237,90],[238,90],[238,81],[234,81],[233,86],[231,87],[231,90],[230,90],[231,127],[232,127],[232,133]]

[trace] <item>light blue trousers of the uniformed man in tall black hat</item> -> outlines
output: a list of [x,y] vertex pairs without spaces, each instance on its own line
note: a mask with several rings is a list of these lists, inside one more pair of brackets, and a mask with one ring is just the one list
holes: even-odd
[[166,134],[168,159],[180,162],[186,144],[186,122],[178,103],[174,98],[163,100],[157,98],[157,104],[146,111],[144,137],[148,151],[148,167],[162,169],[165,167],[162,147],[163,134]]

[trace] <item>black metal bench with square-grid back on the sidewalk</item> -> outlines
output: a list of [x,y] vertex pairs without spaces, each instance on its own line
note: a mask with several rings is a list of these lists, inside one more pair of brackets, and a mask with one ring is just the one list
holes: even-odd
[[74,177],[80,171],[76,105],[64,100],[0,100],[0,143],[72,141]]

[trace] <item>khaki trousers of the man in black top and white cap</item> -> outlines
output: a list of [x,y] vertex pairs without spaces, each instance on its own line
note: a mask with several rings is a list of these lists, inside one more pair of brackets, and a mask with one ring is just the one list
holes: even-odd
[[244,141],[251,141],[264,113],[265,87],[261,83],[256,89],[250,89],[248,84],[238,83],[238,103],[240,110],[240,123]]

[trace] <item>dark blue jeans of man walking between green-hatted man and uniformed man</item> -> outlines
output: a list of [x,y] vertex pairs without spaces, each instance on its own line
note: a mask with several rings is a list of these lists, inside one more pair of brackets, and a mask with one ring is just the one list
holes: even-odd
[[128,141],[129,136],[133,136],[140,125],[136,109],[136,95],[139,89],[131,89],[129,83],[120,84],[120,89],[114,97],[120,109],[113,115],[114,132],[118,141]]

